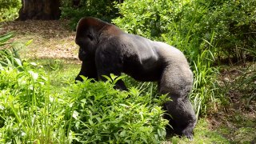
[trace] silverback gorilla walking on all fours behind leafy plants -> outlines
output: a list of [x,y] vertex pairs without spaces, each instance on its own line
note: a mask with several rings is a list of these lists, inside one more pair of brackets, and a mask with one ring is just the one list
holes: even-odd
[[[91,17],[78,22],[75,42],[80,46],[78,57],[82,61],[76,80],[82,81],[80,75],[104,80],[102,75],[125,73],[138,81],[158,82],[159,92],[172,99],[163,106],[172,117],[168,117],[173,127],[171,133],[193,138],[197,118],[188,99],[193,74],[180,50],[127,34],[117,26]],[[116,88],[127,90],[122,80],[116,83]]]

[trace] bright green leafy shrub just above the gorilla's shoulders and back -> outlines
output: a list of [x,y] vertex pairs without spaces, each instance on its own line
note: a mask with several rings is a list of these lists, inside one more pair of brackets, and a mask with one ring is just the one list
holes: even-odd
[[117,7],[122,17],[113,22],[131,34],[147,38],[159,37],[165,33],[169,17],[174,17],[174,9],[171,9],[174,8],[173,2],[166,0],[126,0]]

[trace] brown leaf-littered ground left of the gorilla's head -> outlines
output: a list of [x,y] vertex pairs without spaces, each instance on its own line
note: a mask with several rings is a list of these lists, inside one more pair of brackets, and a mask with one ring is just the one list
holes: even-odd
[[14,31],[15,42],[30,42],[28,46],[17,45],[22,58],[60,58],[79,62],[75,32],[69,30],[67,21],[15,21],[0,23],[0,34]]

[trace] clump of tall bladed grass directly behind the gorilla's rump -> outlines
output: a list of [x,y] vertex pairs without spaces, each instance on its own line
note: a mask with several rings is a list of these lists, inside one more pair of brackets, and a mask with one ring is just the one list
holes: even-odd
[[[193,29],[194,26],[190,27]],[[219,98],[222,98],[222,95],[218,95],[218,67],[214,66],[214,46],[212,42],[206,40],[201,43],[198,42],[199,38],[197,36],[193,36],[192,40],[191,36],[188,35],[182,38],[179,29],[175,30],[175,33],[179,35],[177,37],[178,41],[176,39],[174,41],[170,40],[166,36],[164,36],[164,39],[170,44],[173,43],[174,46],[177,46],[186,54],[194,74],[194,85],[190,99],[193,102],[197,116],[206,114],[207,111],[216,108],[218,102],[220,102]]]

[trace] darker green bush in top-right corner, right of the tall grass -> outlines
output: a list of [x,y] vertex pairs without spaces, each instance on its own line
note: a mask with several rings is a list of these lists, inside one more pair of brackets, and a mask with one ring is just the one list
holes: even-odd
[[255,6],[255,0],[223,2],[220,6],[211,7],[208,17],[202,18],[206,24],[202,25],[205,29],[199,33],[214,30],[214,41],[219,47],[218,57],[244,58],[246,54],[252,54],[250,50],[255,50]]

